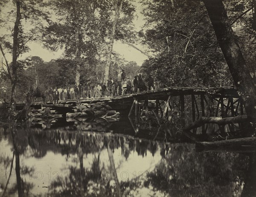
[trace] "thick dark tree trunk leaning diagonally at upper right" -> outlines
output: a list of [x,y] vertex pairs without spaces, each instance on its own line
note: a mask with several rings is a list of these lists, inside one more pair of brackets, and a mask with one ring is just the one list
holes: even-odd
[[256,88],[221,0],[204,0],[218,44],[244,101],[248,117],[256,119]]

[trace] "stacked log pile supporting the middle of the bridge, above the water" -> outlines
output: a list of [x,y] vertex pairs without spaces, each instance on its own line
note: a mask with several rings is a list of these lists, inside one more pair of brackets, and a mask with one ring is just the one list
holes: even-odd
[[66,117],[119,117],[119,112],[116,112],[106,103],[77,103],[73,109],[73,113],[67,113]]

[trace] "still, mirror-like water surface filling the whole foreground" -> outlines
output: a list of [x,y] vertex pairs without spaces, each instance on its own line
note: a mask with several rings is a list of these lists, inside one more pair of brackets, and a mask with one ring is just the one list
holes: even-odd
[[157,122],[37,120],[0,127],[0,195],[255,196],[255,152],[196,152]]

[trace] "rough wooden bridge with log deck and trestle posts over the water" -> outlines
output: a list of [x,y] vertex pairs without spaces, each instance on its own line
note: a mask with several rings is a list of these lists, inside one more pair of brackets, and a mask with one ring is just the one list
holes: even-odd
[[[77,103],[108,103],[110,106],[125,106],[130,111],[129,116],[142,114],[143,110],[146,115],[148,113],[148,103],[153,103],[149,108],[155,109],[155,113],[159,111],[163,116],[168,115],[168,111],[177,111],[184,113],[192,112],[192,120],[196,118],[196,114],[201,113],[202,116],[210,113],[211,116],[226,117],[228,114],[236,116],[244,114],[243,102],[234,87],[216,87],[216,88],[197,88],[197,87],[169,87],[156,89],[151,91],[143,91],[134,94],[116,96],[116,97],[100,97],[87,98],[79,100],[63,100],[58,104],[41,102],[32,103],[33,108],[51,107],[53,109],[73,108]],[[143,105],[143,106],[142,106]],[[23,108],[24,104],[17,104],[17,109]],[[132,106],[132,107],[131,107]],[[131,108],[130,108],[131,107]],[[115,109],[115,107],[113,107]],[[142,109],[142,112],[140,112]]]

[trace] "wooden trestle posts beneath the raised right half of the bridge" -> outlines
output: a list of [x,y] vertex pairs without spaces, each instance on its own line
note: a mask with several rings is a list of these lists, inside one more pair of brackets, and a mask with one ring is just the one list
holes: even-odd
[[[134,98],[128,116],[130,117],[134,111],[135,117],[142,117],[143,114],[145,114],[147,119],[149,113],[149,102],[155,103],[154,108],[150,109],[151,111],[154,111],[154,114],[156,114],[158,117],[167,118],[170,112],[173,114],[175,111],[176,113],[180,113],[182,126],[185,126],[185,111],[192,113],[192,122],[195,122],[200,117],[225,118],[228,116],[235,117],[237,115],[244,114],[243,102],[241,97],[238,96],[216,96],[211,94],[180,94],[178,96],[172,96],[169,93],[167,100],[138,100],[137,98]],[[233,124],[228,124],[228,126],[231,131],[234,129]],[[220,130],[221,132],[224,132],[224,126],[220,126]],[[202,126],[202,132],[206,132],[204,125]],[[193,133],[196,133],[196,128],[193,129]]]

